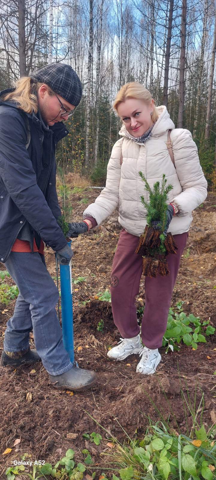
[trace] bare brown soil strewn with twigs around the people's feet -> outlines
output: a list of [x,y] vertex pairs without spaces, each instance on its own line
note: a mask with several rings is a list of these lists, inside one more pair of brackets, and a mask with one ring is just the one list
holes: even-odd
[[[73,220],[80,220],[87,204],[98,196],[98,190],[85,189],[71,197]],[[210,318],[216,326],[216,195],[210,193],[205,203],[193,213],[193,226],[172,296],[172,305],[184,301],[184,312]],[[100,228],[73,240],[74,249],[72,276],[86,277],[86,281],[74,285],[74,330],[75,357],[80,367],[95,370],[98,382],[90,391],[74,393],[56,391],[48,381],[42,365],[37,363],[17,369],[0,370],[0,465],[4,477],[6,466],[14,459],[20,460],[23,453],[32,458],[44,459],[51,463],[64,456],[68,448],[76,451],[89,448],[94,461],[101,464],[100,448],[94,449],[85,443],[84,432],[98,431],[105,438],[105,432],[91,419],[88,413],[105,429],[119,439],[129,435],[141,435],[148,423],[145,415],[159,420],[155,406],[165,419],[170,416],[171,424],[177,431],[186,432],[186,423],[192,422],[190,414],[183,409],[182,390],[194,397],[198,385],[197,402],[201,390],[205,394],[204,422],[212,424],[216,413],[216,335],[207,337],[206,344],[198,349],[181,346],[179,352],[165,354],[161,348],[162,361],[157,374],[143,377],[136,374],[137,357],[131,356],[123,362],[112,362],[106,356],[109,346],[119,341],[118,331],[113,323],[111,304],[98,300],[98,292],[109,289],[109,278],[118,241],[120,225],[117,211]],[[47,268],[56,276],[55,258],[51,249],[45,252]],[[4,266],[0,265],[1,269]],[[9,279],[9,282],[12,281]],[[90,301],[89,301],[90,300]],[[81,302],[87,302],[82,304]],[[7,306],[0,305],[0,347],[6,322],[11,316],[15,301]],[[145,304],[144,278],[141,281],[137,307]],[[98,322],[104,320],[103,332],[97,330]],[[31,335],[31,346],[34,338]],[[31,373],[32,370],[35,373]],[[27,393],[32,394],[30,403]],[[153,400],[155,406],[152,404]],[[119,422],[119,423],[118,423]],[[67,434],[74,433],[74,440]],[[13,446],[14,441],[21,442]],[[106,443],[106,442],[105,442]],[[9,455],[3,455],[10,447]],[[0,470],[1,471],[1,470]]]

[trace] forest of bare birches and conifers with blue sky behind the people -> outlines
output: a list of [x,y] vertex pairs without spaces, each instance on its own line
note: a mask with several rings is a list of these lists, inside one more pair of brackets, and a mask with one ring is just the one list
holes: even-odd
[[57,150],[64,168],[104,177],[119,119],[118,89],[144,84],[187,128],[216,185],[215,0],[2,0],[0,89],[47,63],[69,63],[83,98]]

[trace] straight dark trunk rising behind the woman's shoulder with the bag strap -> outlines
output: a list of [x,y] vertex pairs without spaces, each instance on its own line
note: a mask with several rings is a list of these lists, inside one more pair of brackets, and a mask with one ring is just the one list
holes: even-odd
[[182,0],[178,128],[183,127],[183,111],[184,111],[184,95],[185,95],[184,69],[185,69],[185,43],[186,43],[186,14],[187,14],[187,0]]

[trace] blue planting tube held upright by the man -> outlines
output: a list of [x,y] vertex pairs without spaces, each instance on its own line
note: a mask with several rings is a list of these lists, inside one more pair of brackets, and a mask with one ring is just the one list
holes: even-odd
[[[71,241],[68,242],[70,247]],[[60,283],[61,283],[61,320],[63,344],[68,352],[71,363],[74,363],[74,341],[73,341],[73,297],[72,297],[72,278],[71,262],[69,265],[61,265]]]

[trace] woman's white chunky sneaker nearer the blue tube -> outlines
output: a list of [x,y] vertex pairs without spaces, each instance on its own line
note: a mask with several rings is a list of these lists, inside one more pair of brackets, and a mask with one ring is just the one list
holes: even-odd
[[107,352],[107,357],[112,360],[125,360],[132,353],[139,353],[141,349],[140,335],[133,338],[120,338],[118,345]]

